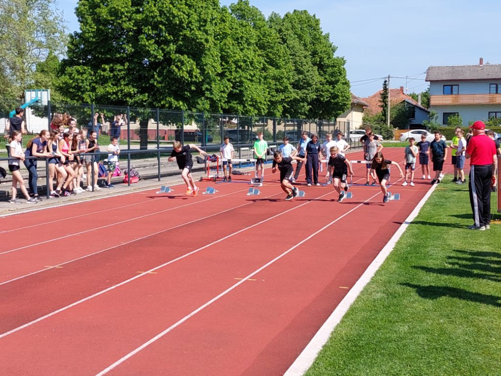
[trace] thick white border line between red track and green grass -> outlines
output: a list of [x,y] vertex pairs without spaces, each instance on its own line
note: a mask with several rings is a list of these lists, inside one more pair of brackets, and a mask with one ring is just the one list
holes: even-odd
[[376,271],[383,264],[384,260],[386,260],[390,252],[395,247],[398,239],[400,239],[404,231],[407,229],[407,226],[409,226],[414,218],[416,218],[426,200],[428,200],[432,192],[435,190],[436,186],[437,185],[434,184],[426,195],[423,196],[419,204],[414,208],[411,214],[409,214],[404,223],[400,225],[398,230],[395,234],[393,234],[388,243],[386,243],[381,252],[379,252],[374,261],[372,261],[372,263],[367,267],[355,285],[353,285],[351,290],[348,291],[343,300],[341,300],[329,318],[314,335],[310,343],[308,343],[305,349],[296,358],[294,363],[292,363],[289,369],[284,373],[284,376],[301,376],[308,370],[308,368],[310,368],[324,344],[327,343],[327,340],[329,339],[334,328],[341,321],[358,295],[360,295],[365,285],[372,279]]

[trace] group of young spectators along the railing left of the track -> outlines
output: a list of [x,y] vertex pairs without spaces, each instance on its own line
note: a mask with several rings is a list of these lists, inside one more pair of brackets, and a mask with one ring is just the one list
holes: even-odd
[[[38,193],[38,173],[37,159],[46,158],[49,170],[49,186],[51,198],[61,196],[75,196],[83,193],[82,177],[86,170],[86,191],[92,192],[92,169],[94,170],[94,190],[100,191],[98,181],[98,155],[81,155],[100,151],[98,143],[99,128],[104,123],[104,115],[96,113],[94,120],[89,122],[88,129],[78,129],[77,121],[69,114],[55,114],[50,124],[51,130],[42,130],[40,134],[32,138],[23,150],[22,139],[26,133],[25,122],[23,120],[24,111],[21,107],[16,109],[16,115],[9,119],[6,127],[9,138],[9,170],[12,172],[12,198],[13,204],[21,203],[17,199],[17,185],[29,204],[36,204],[42,201]],[[101,123],[98,118],[101,117]],[[120,148],[118,137],[120,125],[126,121],[123,115],[115,116],[116,124],[110,128],[114,131],[110,135],[110,144],[107,147],[108,154],[108,179],[105,183],[107,188],[113,189],[111,176],[115,171]],[[112,123],[112,124],[113,124]],[[25,187],[24,179],[20,172],[21,162],[28,169],[28,190]],[[111,169],[111,170],[110,170]]]

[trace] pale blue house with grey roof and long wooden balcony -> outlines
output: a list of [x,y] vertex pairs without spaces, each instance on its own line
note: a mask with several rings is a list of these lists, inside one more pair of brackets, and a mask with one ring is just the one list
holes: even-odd
[[438,122],[447,124],[459,115],[463,126],[476,120],[501,118],[501,64],[432,66],[426,72],[430,83],[430,110]]

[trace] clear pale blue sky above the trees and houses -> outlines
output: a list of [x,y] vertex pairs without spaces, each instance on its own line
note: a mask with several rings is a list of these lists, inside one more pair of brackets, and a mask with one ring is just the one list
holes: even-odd
[[[77,0],[56,0],[68,20],[68,29],[79,29],[75,17]],[[221,5],[234,1],[220,0]],[[485,0],[250,0],[268,17],[306,9],[320,19],[338,47],[336,54],[346,59],[353,94],[365,97],[381,89],[383,80],[390,86],[406,86],[407,92],[427,88],[424,72],[430,65],[501,63],[499,35],[501,2]],[[415,79],[413,79],[415,78]]]

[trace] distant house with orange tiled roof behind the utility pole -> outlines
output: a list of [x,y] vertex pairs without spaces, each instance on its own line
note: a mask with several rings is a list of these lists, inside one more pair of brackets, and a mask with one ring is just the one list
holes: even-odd
[[[364,102],[368,104],[368,107],[365,109],[366,114],[376,115],[383,110],[380,107],[382,91],[383,90],[379,90],[367,98],[361,98]],[[409,95],[404,94],[403,86],[400,86],[399,89],[389,89],[389,94],[390,94],[390,113],[392,106],[395,106],[402,102],[404,102],[405,105],[410,109],[411,120],[409,128],[411,129],[421,128],[423,120],[428,120],[430,111],[421,106],[421,103],[416,102]]]

